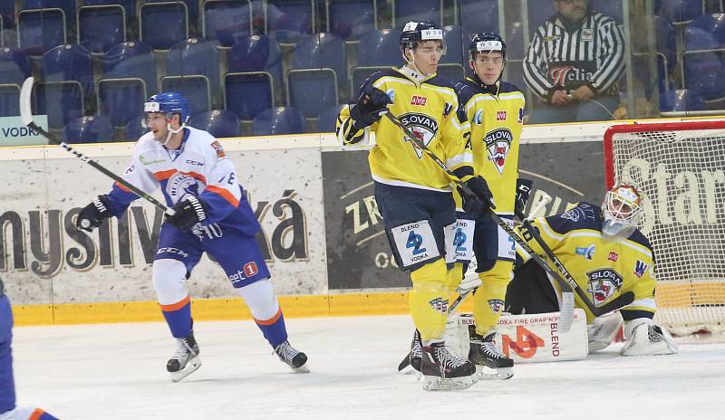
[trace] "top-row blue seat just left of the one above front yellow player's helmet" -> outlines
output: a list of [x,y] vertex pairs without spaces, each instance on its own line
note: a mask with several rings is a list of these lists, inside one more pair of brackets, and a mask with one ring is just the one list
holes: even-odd
[[357,39],[378,28],[376,0],[327,0],[327,32],[343,39]]

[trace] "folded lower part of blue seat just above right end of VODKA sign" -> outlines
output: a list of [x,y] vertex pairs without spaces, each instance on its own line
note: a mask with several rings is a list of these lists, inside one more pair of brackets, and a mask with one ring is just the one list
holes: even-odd
[[85,99],[79,81],[41,81],[35,84],[34,113],[47,115],[51,129],[63,129],[83,116]]

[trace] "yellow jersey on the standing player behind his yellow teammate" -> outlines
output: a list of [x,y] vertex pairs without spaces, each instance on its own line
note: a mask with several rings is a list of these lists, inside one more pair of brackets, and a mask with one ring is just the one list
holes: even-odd
[[[456,83],[459,100],[470,123],[474,171],[486,178],[498,215],[513,215],[518,177],[518,145],[524,125],[524,94],[513,84],[498,81],[483,86],[478,78]],[[456,205],[461,208],[458,192]]]

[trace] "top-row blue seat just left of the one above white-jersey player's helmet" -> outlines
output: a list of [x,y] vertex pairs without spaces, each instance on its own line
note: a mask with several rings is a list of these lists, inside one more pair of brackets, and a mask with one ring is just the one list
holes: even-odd
[[121,5],[84,5],[78,8],[78,43],[94,54],[126,42],[127,15]]

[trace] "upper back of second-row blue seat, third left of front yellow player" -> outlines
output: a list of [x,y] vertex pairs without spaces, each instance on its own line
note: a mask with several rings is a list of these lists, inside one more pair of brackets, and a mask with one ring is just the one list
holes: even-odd
[[266,35],[252,35],[232,45],[227,54],[229,72],[268,72],[282,85],[282,52]]

